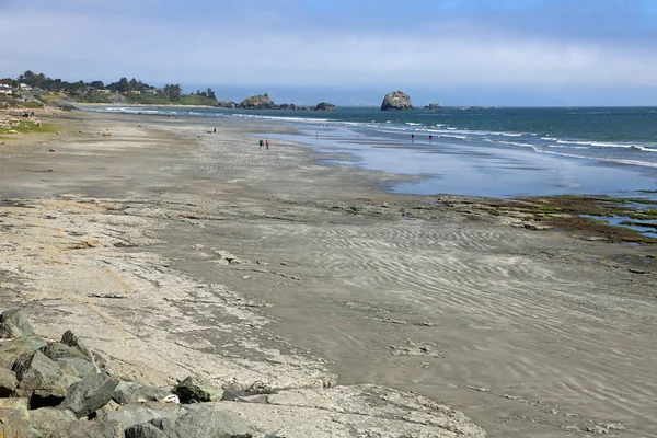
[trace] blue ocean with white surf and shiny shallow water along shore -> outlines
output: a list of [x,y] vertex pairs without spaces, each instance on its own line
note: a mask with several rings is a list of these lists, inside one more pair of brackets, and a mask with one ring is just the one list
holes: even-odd
[[[657,199],[657,107],[443,107],[335,112],[90,106],[88,111],[230,119],[336,164],[416,176],[390,192],[475,196],[611,195]],[[298,135],[273,135],[267,126]],[[412,140],[412,135],[415,137]],[[429,138],[430,136],[430,138]],[[419,177],[417,177],[419,176]]]

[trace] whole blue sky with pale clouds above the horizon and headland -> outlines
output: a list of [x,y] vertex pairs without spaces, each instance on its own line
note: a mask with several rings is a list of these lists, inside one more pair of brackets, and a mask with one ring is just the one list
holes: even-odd
[[657,106],[657,0],[0,0],[0,42],[2,78],[233,101]]

